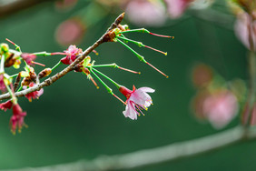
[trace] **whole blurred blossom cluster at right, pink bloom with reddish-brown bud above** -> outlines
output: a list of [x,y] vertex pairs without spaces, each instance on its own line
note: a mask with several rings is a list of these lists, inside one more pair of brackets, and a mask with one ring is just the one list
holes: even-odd
[[192,82],[197,94],[192,109],[201,121],[209,121],[216,129],[227,126],[245,102],[246,86],[241,80],[226,82],[208,65],[196,65]]

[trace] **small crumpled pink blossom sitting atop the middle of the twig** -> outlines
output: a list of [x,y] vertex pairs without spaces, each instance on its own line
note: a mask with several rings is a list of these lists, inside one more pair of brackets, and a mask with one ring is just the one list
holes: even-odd
[[72,64],[76,59],[77,55],[83,53],[82,49],[77,48],[75,45],[69,45],[68,49],[64,52],[66,53],[66,56],[61,59],[61,62],[65,65]]

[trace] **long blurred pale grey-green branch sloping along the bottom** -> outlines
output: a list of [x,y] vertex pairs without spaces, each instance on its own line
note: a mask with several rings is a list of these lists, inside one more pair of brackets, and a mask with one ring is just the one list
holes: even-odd
[[202,138],[161,146],[148,150],[141,150],[129,154],[116,156],[99,156],[92,161],[82,160],[74,163],[43,166],[37,168],[23,168],[2,171],[103,171],[123,170],[136,167],[152,166],[163,162],[197,156],[208,153],[235,143],[249,141],[256,138],[256,129],[245,129],[237,126],[222,133]]

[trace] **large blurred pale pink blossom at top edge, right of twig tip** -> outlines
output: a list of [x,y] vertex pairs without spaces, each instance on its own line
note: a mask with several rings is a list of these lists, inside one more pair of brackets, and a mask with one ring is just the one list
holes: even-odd
[[160,1],[133,0],[125,5],[125,14],[135,25],[162,25],[166,19]]

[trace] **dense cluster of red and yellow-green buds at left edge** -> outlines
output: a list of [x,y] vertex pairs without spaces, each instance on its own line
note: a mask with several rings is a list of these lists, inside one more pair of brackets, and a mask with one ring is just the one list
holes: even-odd
[[[16,45],[14,42],[6,39],[12,45],[15,45],[15,49],[10,49],[9,45],[3,43],[0,45],[0,90],[5,93],[6,91],[11,95],[11,99],[7,100],[4,103],[0,104],[0,109],[6,111],[7,109],[13,109],[13,116],[10,119],[10,126],[12,133],[15,134],[16,129],[21,131],[23,126],[25,125],[24,118],[26,116],[26,112],[23,112],[22,108],[18,104],[17,97],[15,96],[15,92],[19,92],[23,89],[27,89],[29,87],[33,87],[36,84],[39,84],[39,79],[44,76],[50,75],[52,72],[51,68],[45,68],[43,71],[36,75],[34,72],[33,65],[42,65],[40,63],[34,62],[36,59],[36,55],[59,55],[58,53],[48,54],[48,53],[23,53],[21,51],[20,46]],[[61,53],[64,55],[64,53]],[[5,72],[5,67],[14,66],[15,69],[19,69],[20,65],[24,62],[24,70],[19,71],[15,75],[8,75]],[[44,65],[42,65],[44,66]],[[15,78],[15,83],[13,80]],[[20,87],[17,89],[17,87]],[[32,99],[38,98],[43,94],[44,90],[35,90],[34,92],[25,94],[25,97],[31,102]]]

